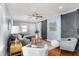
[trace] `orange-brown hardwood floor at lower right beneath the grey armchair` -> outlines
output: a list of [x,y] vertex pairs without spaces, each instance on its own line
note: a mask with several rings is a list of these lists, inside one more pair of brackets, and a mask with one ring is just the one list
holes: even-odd
[[55,48],[48,51],[48,56],[79,56],[79,52],[69,52]]

